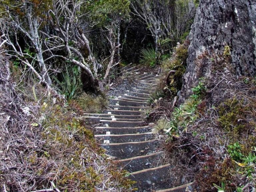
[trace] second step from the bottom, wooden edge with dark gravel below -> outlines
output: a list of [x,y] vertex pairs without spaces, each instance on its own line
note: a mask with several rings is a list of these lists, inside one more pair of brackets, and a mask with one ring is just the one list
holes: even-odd
[[168,189],[171,187],[172,181],[168,174],[170,168],[170,164],[166,164],[159,167],[144,169],[131,173],[129,178],[137,181],[135,186],[138,188],[138,192]]

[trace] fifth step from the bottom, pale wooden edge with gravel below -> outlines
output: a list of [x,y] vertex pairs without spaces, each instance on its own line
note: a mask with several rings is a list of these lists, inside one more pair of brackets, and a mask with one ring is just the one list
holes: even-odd
[[138,133],[138,134],[122,134],[113,135],[94,135],[100,143],[104,140],[109,140],[110,143],[126,143],[126,142],[139,142],[154,139],[155,135],[152,132]]

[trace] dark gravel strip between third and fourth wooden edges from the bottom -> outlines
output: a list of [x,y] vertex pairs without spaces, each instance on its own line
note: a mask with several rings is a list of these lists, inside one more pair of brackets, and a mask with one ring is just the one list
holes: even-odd
[[139,144],[102,145],[107,154],[118,159],[126,159],[135,156],[146,155],[153,152],[159,145],[158,141]]

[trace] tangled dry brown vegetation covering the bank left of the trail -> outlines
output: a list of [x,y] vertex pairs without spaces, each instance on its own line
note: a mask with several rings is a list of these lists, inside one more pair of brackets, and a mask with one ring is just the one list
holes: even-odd
[[80,104],[65,104],[8,63],[1,57],[0,191],[130,191],[125,172],[76,118]]

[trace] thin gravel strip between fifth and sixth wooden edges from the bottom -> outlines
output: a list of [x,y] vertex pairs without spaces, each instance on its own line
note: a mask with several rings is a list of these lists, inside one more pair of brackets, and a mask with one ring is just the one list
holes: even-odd
[[97,134],[106,134],[106,132],[110,132],[111,134],[135,134],[135,133],[147,133],[151,131],[151,127],[149,128],[95,128],[95,132]]

